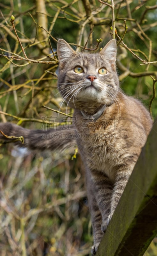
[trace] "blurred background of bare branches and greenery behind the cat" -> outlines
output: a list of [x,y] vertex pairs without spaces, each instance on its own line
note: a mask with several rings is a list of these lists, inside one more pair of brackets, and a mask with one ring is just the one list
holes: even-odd
[[[117,47],[122,91],[140,99],[154,118],[157,2],[114,4],[116,39],[123,42]],[[42,108],[73,112],[57,90],[57,41],[63,38],[78,51],[86,46],[85,51],[96,52],[112,39],[111,26],[112,9],[96,0],[0,3],[0,121],[29,129],[53,129],[54,120],[70,122]],[[144,61],[154,63],[141,65]],[[91,255],[84,171],[75,148],[41,153],[1,144],[0,193],[0,255]],[[157,238],[144,255],[156,256],[156,245]]]

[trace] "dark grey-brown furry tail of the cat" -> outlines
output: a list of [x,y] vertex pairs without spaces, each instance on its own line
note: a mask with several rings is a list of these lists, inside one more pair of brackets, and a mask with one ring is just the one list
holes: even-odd
[[66,125],[59,126],[55,130],[43,131],[25,129],[12,123],[0,123],[0,130],[7,135],[6,137],[0,133],[0,140],[4,140],[4,142],[15,141],[15,138],[8,138],[8,136],[22,136],[23,144],[20,140],[17,140],[15,144],[32,150],[64,150],[76,145],[75,131],[70,130]]

